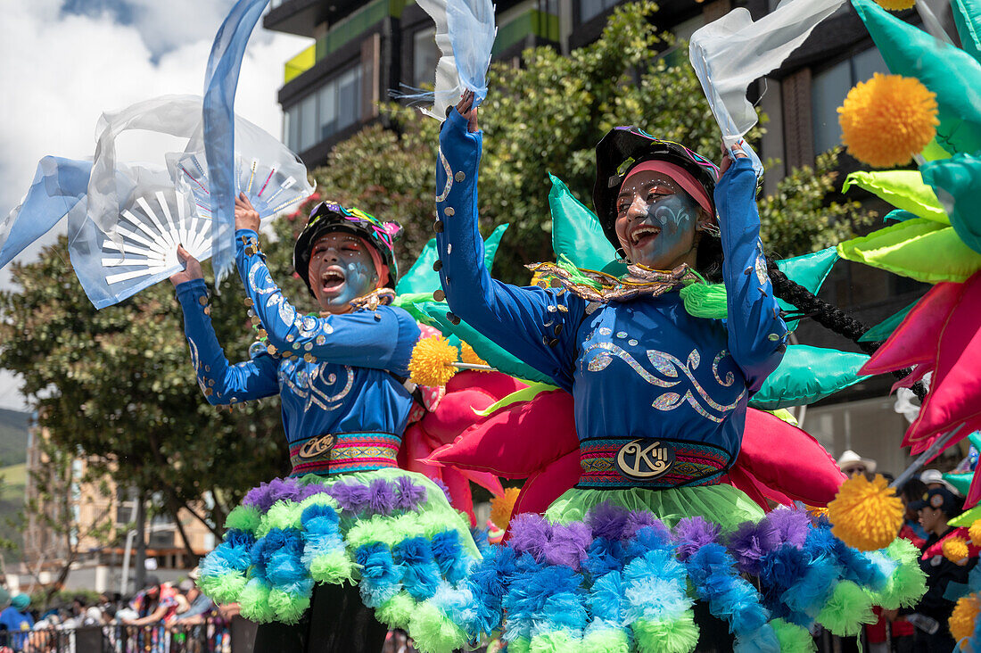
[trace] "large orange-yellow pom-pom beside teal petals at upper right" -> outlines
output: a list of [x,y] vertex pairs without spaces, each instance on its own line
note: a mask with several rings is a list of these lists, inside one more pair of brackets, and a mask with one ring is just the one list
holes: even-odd
[[876,73],[838,108],[849,154],[878,168],[909,163],[937,134],[937,96],[922,82]]

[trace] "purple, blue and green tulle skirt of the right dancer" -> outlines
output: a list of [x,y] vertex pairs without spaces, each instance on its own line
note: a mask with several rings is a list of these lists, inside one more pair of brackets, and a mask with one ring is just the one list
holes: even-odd
[[[655,511],[652,511],[654,508]],[[824,517],[765,517],[727,485],[573,489],[521,515],[471,571],[477,621],[511,653],[696,649],[696,601],[729,627],[737,651],[811,651],[808,628],[856,635],[873,606],[917,602],[918,551],[897,539],[859,552]]]

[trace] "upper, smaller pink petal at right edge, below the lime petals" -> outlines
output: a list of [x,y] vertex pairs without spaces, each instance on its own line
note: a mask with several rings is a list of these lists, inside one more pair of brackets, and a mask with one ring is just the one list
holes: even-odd
[[858,370],[883,374],[934,361],[937,338],[960,297],[961,284],[937,284],[916,302],[882,347]]

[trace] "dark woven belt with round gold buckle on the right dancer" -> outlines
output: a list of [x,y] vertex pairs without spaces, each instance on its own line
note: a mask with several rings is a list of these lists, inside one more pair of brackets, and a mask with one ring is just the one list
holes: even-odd
[[576,487],[594,489],[717,485],[732,460],[721,447],[666,438],[591,438],[579,457]]

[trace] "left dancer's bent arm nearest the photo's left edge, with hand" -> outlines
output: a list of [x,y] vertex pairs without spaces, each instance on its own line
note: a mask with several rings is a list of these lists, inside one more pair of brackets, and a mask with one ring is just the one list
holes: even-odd
[[268,354],[234,365],[225,357],[211,324],[208,289],[201,265],[183,247],[179,250],[186,269],[171,280],[177,286],[184,316],[184,336],[190,360],[208,403],[212,406],[261,399],[279,394],[277,361]]

